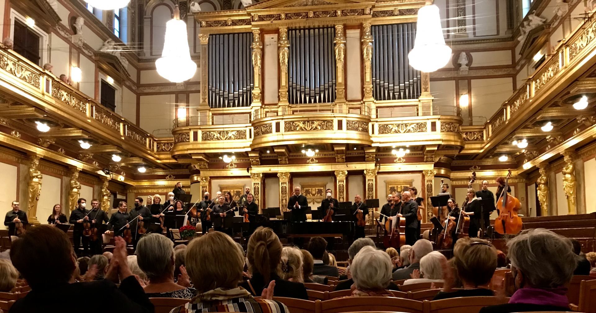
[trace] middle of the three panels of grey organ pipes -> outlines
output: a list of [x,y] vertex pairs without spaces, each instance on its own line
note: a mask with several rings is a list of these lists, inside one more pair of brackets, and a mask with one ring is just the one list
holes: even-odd
[[336,98],[335,27],[288,30],[288,102],[331,103]]

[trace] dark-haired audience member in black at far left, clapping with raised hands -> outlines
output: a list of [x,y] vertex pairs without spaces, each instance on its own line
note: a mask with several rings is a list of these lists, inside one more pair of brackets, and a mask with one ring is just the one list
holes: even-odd
[[[13,242],[10,258],[32,291],[18,299],[10,312],[153,312],[153,304],[126,266],[126,242],[121,237],[114,241],[108,277],[120,278],[120,287],[109,280],[69,284],[76,259],[66,233],[50,225],[27,229]],[[67,295],[68,301],[57,303],[58,295]],[[97,301],[89,302],[94,296]]]

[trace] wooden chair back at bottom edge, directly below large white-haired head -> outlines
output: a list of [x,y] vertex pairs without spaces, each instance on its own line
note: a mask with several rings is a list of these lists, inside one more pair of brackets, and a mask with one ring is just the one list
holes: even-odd
[[[331,299],[321,302],[321,313],[340,313],[352,311],[399,311],[421,313],[423,303],[393,297],[355,297]],[[290,312],[293,312],[290,310]],[[477,312],[474,312],[477,313]]]

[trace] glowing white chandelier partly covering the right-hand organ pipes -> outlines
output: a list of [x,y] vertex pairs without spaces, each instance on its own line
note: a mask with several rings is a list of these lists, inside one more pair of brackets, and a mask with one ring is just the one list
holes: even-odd
[[445,45],[439,17],[439,7],[425,5],[418,10],[414,49],[409,52],[409,64],[419,71],[434,72],[451,59],[451,48]]

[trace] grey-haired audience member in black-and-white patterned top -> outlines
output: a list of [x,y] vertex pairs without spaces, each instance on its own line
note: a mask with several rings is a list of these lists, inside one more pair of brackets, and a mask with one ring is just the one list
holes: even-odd
[[139,268],[149,280],[144,287],[149,298],[193,298],[195,289],[174,282],[172,240],[162,234],[146,234],[136,245],[136,255]]

